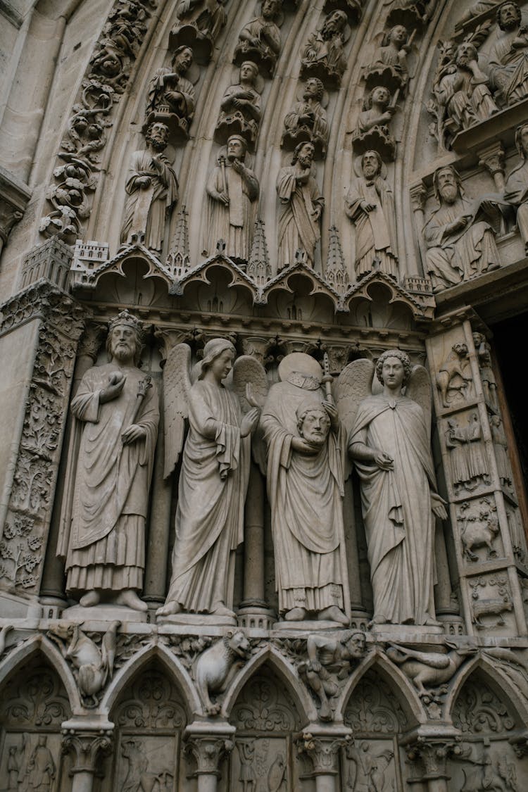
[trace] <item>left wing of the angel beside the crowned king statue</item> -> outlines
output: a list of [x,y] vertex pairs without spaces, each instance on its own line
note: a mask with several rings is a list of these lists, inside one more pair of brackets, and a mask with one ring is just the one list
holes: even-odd
[[167,478],[177,466],[184,447],[185,420],[188,418],[191,379],[191,347],[177,344],[169,354],[163,370],[163,402],[165,419],[165,470]]

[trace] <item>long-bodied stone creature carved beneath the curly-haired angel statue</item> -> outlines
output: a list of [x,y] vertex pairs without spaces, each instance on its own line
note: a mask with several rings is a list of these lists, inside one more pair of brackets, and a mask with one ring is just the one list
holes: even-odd
[[465,659],[477,652],[474,646],[458,646],[450,641],[445,641],[445,644],[450,649],[445,654],[420,652],[418,649],[409,649],[408,646],[391,644],[386,649],[386,655],[393,663],[401,666],[401,670],[412,681],[421,698],[431,695],[426,690],[426,685],[438,687],[450,682]]

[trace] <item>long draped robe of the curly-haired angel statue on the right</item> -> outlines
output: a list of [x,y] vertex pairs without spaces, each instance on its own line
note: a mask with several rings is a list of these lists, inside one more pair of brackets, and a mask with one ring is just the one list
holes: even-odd
[[380,394],[359,405],[349,447],[365,444],[391,455],[394,470],[355,459],[367,534],[374,618],[425,624],[435,618],[433,599],[435,489],[424,411],[411,399]]

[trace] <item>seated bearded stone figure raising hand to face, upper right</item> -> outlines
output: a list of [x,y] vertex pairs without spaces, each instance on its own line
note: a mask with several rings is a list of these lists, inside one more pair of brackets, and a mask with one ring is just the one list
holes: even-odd
[[464,41],[446,52],[433,82],[433,95],[440,109],[440,139],[445,138],[446,125],[450,135],[455,135],[498,111],[489,86],[487,75],[478,65],[474,44]]

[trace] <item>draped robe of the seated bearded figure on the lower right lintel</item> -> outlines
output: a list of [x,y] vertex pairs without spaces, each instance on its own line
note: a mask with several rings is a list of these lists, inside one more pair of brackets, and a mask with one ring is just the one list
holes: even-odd
[[427,272],[437,291],[500,265],[493,230],[485,220],[450,230],[450,223],[462,215],[472,217],[473,203],[458,196],[454,204],[443,202],[435,209],[424,226]]

